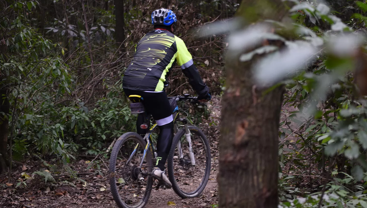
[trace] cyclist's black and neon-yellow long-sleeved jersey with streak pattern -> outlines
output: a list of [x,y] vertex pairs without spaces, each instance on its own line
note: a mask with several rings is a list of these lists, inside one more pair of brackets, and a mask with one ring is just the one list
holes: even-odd
[[[161,92],[168,85],[168,74],[177,62],[198,94],[207,93],[185,43],[167,30],[155,29],[145,34],[135,48],[134,58],[123,77],[123,88]],[[205,92],[204,92],[205,91]]]

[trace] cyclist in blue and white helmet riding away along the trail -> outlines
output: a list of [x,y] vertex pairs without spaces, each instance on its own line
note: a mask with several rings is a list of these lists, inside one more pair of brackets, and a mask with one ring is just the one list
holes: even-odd
[[[176,21],[176,15],[171,10],[161,8],[152,13],[154,30],[145,34],[136,45],[134,58],[123,77],[125,94],[142,96],[146,111],[159,126],[157,157],[152,176],[162,181],[167,188],[172,187],[166,175],[165,164],[172,144],[173,116],[165,88],[174,63],[177,62],[181,66],[199,101],[206,102],[211,99],[209,88],[194,66],[185,43],[173,34]],[[143,119],[142,114],[139,114],[137,132],[141,135],[145,134],[140,128]]]

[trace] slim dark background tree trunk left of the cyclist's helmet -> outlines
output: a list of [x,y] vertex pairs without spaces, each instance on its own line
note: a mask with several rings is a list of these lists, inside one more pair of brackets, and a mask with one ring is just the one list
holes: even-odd
[[[115,17],[116,17],[116,28],[115,28],[115,38],[117,42],[117,47],[120,47],[121,43],[125,40],[125,21],[124,21],[124,1],[115,0]],[[120,51],[124,52],[125,47],[121,45]]]

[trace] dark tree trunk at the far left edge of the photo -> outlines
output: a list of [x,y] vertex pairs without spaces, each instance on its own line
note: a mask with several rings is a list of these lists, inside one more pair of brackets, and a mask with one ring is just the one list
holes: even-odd
[[7,171],[10,165],[8,154],[9,108],[7,88],[5,84],[0,84],[0,172]]

